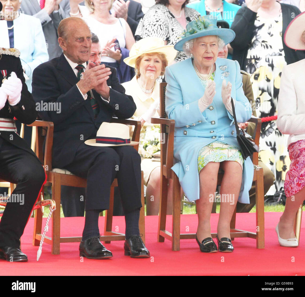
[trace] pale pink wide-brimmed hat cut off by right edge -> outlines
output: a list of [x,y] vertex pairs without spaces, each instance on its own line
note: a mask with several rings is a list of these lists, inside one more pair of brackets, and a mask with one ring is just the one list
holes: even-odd
[[288,25],[284,42],[289,48],[296,50],[304,50],[305,42],[301,40],[301,36],[305,31],[305,11],[296,16]]

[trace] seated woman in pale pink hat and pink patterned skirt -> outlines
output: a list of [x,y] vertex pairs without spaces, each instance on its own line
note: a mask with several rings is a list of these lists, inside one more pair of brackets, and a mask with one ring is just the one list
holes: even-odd
[[[284,35],[285,44],[295,50],[305,50],[305,12],[291,21]],[[286,173],[284,190],[286,205],[275,228],[282,246],[299,245],[293,232],[296,212],[305,194],[305,59],[284,66],[278,95],[278,130],[289,134],[290,167]]]

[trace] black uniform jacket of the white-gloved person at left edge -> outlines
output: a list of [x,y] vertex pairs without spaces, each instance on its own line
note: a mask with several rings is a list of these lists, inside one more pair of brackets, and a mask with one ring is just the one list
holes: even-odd
[[[0,59],[0,69],[7,71],[7,78],[12,72],[15,72],[17,77],[22,82],[21,99],[20,102],[14,106],[10,106],[9,102],[6,101],[5,106],[0,110],[0,117],[6,119],[13,119],[16,117],[21,123],[31,124],[37,118],[37,111],[35,108],[35,102],[32,98],[31,93],[27,90],[25,79],[23,76],[23,69],[21,66],[20,59],[12,55],[4,55]],[[0,86],[2,85],[3,76],[0,73]],[[24,149],[36,156],[35,153],[30,149],[27,143],[15,132],[11,131],[0,131],[0,150],[3,139],[9,143],[17,146],[18,148]]]

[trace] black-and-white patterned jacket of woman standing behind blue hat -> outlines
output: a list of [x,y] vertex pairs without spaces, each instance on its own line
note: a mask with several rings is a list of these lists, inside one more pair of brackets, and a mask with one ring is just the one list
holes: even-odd
[[[198,11],[189,7],[184,8],[184,13],[186,23],[196,20],[200,16]],[[174,45],[181,37],[183,30],[184,28],[165,5],[156,4],[140,20],[135,35],[140,38],[160,37],[166,40],[168,45]],[[184,52],[178,52],[175,62],[188,58]]]

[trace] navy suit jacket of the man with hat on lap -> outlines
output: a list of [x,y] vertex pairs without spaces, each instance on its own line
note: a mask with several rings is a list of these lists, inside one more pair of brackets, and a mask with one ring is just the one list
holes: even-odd
[[95,136],[102,122],[109,122],[113,115],[127,119],[135,113],[133,98],[125,95],[115,68],[109,68],[112,72],[107,80],[107,85],[111,87],[109,104],[92,90],[100,108],[96,119],[90,100],[84,100],[78,90],[77,77],[63,54],[35,68],[32,81],[35,102],[60,104],[60,113],[52,110],[38,111],[43,120],[54,123],[53,166],[64,168],[71,163],[78,146],[92,135]]

